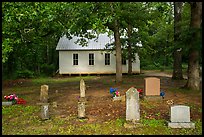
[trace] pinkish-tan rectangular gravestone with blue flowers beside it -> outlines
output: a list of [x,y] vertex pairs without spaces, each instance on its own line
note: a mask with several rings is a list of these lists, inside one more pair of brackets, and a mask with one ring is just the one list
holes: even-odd
[[144,81],[144,98],[161,98],[160,79],[156,77],[147,77]]

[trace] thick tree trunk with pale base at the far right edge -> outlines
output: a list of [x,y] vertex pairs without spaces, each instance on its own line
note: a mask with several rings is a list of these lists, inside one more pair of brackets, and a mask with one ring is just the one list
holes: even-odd
[[[202,22],[202,2],[190,2],[191,5],[191,22],[190,29],[200,29]],[[188,62],[188,81],[185,85],[186,88],[192,90],[200,89],[200,76],[199,76],[199,50],[196,48],[197,41],[201,39],[199,31],[192,34],[192,39],[189,48],[189,62]]]

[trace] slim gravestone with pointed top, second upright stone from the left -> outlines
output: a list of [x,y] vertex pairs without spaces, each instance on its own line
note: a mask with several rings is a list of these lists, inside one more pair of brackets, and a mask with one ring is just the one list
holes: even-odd
[[80,98],[78,100],[78,118],[85,118],[85,90],[86,85],[83,79],[80,80]]

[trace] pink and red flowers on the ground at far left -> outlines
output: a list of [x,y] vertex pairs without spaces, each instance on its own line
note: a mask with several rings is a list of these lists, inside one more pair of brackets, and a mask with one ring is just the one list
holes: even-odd
[[25,104],[26,101],[22,98],[18,98],[16,94],[10,94],[8,96],[4,96],[4,99],[6,99],[9,102],[12,102],[12,104]]

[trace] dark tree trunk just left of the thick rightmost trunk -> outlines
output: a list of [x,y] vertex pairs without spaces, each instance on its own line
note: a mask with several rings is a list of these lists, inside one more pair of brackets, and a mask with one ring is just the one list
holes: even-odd
[[[182,2],[174,2],[174,43],[180,41],[179,36],[181,33],[181,26],[179,23],[181,22],[182,4]],[[174,64],[172,79],[182,80],[182,49],[178,49],[176,47],[177,46],[175,46],[175,50],[173,52]]]

